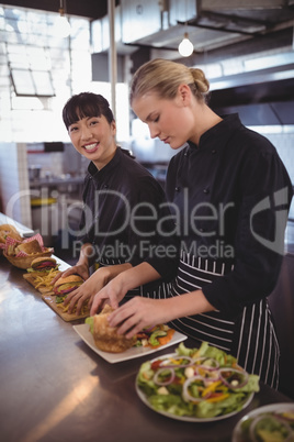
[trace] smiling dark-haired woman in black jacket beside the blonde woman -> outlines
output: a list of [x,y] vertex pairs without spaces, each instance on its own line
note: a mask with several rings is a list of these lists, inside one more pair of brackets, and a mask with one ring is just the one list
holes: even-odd
[[[165,229],[166,233],[172,231],[173,223],[169,220],[161,186],[128,151],[116,145],[116,123],[104,97],[92,92],[71,97],[64,107],[63,119],[72,145],[90,162],[77,235],[80,256],[63,275],[78,274],[86,279],[65,300],[65,305],[69,303],[68,311],[77,305],[79,314],[83,302],[91,305],[93,295],[115,275],[145,259],[152,263],[160,234]],[[158,222],[162,218],[167,221],[160,222],[162,232],[159,232]],[[173,239],[169,241],[172,245]],[[173,251],[177,255],[177,247]],[[166,257],[157,266],[162,275],[159,284],[137,287],[128,296],[165,296],[168,280],[177,269],[174,256],[173,259]],[[99,268],[89,278],[89,267],[93,263]]]

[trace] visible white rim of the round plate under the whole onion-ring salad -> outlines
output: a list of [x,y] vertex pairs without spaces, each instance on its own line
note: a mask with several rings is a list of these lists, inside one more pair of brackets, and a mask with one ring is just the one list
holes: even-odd
[[[159,356],[159,357],[156,357],[156,358],[151,360],[151,362],[157,361],[157,360],[162,358],[162,357],[167,357],[167,356],[168,356],[168,357],[169,357],[169,356],[178,356],[178,354],[177,354],[177,353],[163,354],[162,356]],[[238,412],[240,412],[241,410],[244,410],[246,407],[248,407],[249,404],[251,402],[251,400],[253,399],[253,396],[255,396],[253,393],[251,393],[251,394],[248,396],[247,400],[246,400],[246,401],[244,402],[244,405],[242,405],[241,410],[231,411],[231,412],[229,412],[229,413],[227,413],[227,415],[216,416],[215,418],[194,418],[194,417],[191,417],[191,416],[177,416],[177,415],[172,415],[172,413],[167,412],[167,411],[159,411],[159,410],[156,410],[156,409],[151,406],[151,404],[149,402],[148,398],[145,396],[144,391],[142,391],[142,389],[139,388],[138,383],[137,383],[137,377],[136,377],[135,387],[136,387],[136,391],[137,391],[137,395],[138,395],[138,397],[140,398],[140,400],[142,400],[147,407],[149,407],[151,410],[158,412],[159,415],[167,416],[168,418],[176,419],[176,420],[183,420],[183,421],[186,421],[186,422],[214,422],[214,421],[217,421],[217,420],[227,419],[227,418],[229,418],[229,417],[231,417],[231,416],[237,415]],[[239,441],[238,441],[238,442],[239,442]]]

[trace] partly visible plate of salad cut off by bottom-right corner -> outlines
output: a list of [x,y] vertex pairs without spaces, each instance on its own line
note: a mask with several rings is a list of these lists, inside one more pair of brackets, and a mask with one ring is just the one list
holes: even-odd
[[244,416],[233,442],[294,441],[294,402],[270,404]]

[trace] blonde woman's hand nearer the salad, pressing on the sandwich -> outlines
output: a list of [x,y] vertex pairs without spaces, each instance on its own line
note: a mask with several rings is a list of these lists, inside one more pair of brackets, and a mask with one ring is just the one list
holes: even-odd
[[166,299],[136,296],[110,314],[111,327],[118,327],[118,334],[132,338],[145,328],[168,321]]

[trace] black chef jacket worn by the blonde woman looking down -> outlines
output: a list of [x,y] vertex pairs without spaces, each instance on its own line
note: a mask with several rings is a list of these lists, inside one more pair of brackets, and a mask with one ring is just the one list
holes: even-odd
[[167,196],[181,247],[234,270],[202,287],[228,316],[270,295],[283,255],[293,188],[274,146],[237,114],[171,158]]

